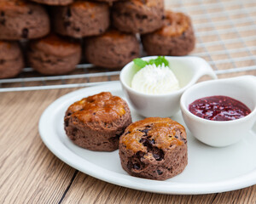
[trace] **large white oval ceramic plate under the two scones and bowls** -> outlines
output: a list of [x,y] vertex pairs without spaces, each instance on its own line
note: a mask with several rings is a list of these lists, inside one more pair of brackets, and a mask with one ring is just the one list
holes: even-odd
[[[183,173],[166,181],[131,177],[120,165],[118,150],[95,152],[79,148],[64,131],[65,111],[74,101],[102,91],[125,99],[119,82],[109,82],[64,95],[49,105],[41,116],[39,133],[44,144],[71,167],[112,184],[164,194],[207,194],[256,184],[256,128],[245,133],[240,143],[225,148],[202,144],[187,129],[189,164]],[[133,122],[143,119],[132,108],[131,116]],[[172,119],[184,126],[180,112]]]

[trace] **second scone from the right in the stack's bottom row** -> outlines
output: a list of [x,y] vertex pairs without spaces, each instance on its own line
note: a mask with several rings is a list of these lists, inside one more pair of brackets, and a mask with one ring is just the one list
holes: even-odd
[[106,68],[121,68],[139,57],[139,42],[133,34],[109,30],[84,43],[85,58],[92,64]]

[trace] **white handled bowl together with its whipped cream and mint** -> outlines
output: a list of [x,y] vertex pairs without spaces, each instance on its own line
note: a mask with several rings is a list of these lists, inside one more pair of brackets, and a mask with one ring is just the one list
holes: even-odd
[[[156,68],[160,68],[161,70],[165,70],[167,66],[167,68],[172,71],[173,75],[170,73],[166,74],[166,72],[164,72],[164,75],[169,75],[170,81],[172,82],[168,82],[168,80],[166,80],[164,77],[160,80],[160,75],[156,76],[156,74],[154,73],[147,74],[155,78],[155,82],[150,83],[150,80],[149,82],[144,82],[145,79],[142,79],[142,76],[147,77],[146,73],[144,72],[142,76],[138,77],[138,82],[136,84],[138,86],[146,86],[146,88],[143,89],[150,89],[151,91],[148,93],[144,93],[137,88],[132,88],[132,81],[134,77],[136,76],[138,71],[142,71],[137,68],[137,65],[135,65],[134,62],[125,65],[120,73],[120,82],[122,84],[127,99],[135,108],[137,113],[142,116],[166,117],[175,115],[177,111],[179,111],[180,97],[187,88],[195,84],[195,82],[197,82],[198,79],[202,76],[207,75],[212,78],[217,78],[214,71],[212,71],[211,66],[208,65],[204,59],[198,57],[166,56],[165,59],[168,65],[162,63],[161,60],[160,64],[157,62],[152,63],[152,61],[158,61],[157,59],[159,59],[159,57],[157,56],[142,58],[143,61],[147,62],[146,65],[153,64],[152,66],[155,65]],[[143,61],[141,62],[143,63]],[[150,69],[154,69],[155,71],[155,67],[149,66],[148,70]],[[177,80],[177,83],[175,82],[175,80]],[[153,86],[153,88],[147,88],[147,86]],[[168,86],[170,86],[171,88]],[[169,89],[171,91],[165,93],[155,93],[155,90],[161,89]]]

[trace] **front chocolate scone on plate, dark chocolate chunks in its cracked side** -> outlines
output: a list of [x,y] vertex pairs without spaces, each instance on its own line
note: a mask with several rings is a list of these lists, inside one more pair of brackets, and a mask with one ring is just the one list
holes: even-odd
[[170,118],[131,123],[119,139],[121,165],[131,176],[165,180],[188,164],[185,128]]

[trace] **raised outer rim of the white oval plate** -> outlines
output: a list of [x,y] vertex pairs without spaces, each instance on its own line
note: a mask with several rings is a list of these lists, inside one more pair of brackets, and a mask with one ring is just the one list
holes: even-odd
[[[165,181],[157,181],[157,180],[150,180],[145,178],[136,178],[132,177],[130,175],[124,175],[120,173],[115,173],[113,171],[110,171],[108,169],[105,169],[103,167],[99,167],[96,164],[93,164],[90,161],[84,160],[81,156],[75,154],[72,150],[68,149],[67,146],[63,143],[61,143],[61,139],[59,139],[59,144],[61,145],[61,148],[65,149],[65,153],[61,150],[56,150],[55,144],[50,142],[49,137],[45,137],[45,135],[48,135],[49,133],[45,133],[49,131],[49,128],[45,127],[45,122],[50,122],[48,118],[48,114],[51,113],[53,109],[55,109],[55,105],[60,103],[61,101],[66,101],[66,99],[70,99],[75,94],[84,94],[84,97],[86,95],[90,95],[91,92],[98,92],[99,89],[102,88],[103,90],[109,91],[118,91],[122,90],[120,82],[109,82],[105,83],[103,85],[97,85],[90,88],[81,88],[78,90],[75,90],[73,92],[70,92],[68,94],[62,95],[60,98],[55,99],[54,102],[52,102],[43,112],[43,114],[40,117],[40,120],[38,122],[38,131],[40,134],[41,139],[43,140],[44,144],[47,146],[47,148],[61,161],[67,163],[70,167],[73,167],[75,169],[78,169],[82,173],[86,173],[94,178],[101,179],[105,182],[108,182],[110,184],[117,184],[119,186],[123,186],[126,188],[134,189],[134,190],[143,190],[153,193],[161,193],[161,194],[172,194],[172,195],[198,195],[198,194],[210,194],[210,193],[219,193],[219,192],[225,192],[230,190],[239,190],[251,185],[256,184],[256,169],[242,174],[236,178],[229,178],[225,179],[223,181],[216,181],[216,182],[206,182],[201,184],[194,184],[194,183],[181,183],[181,182],[165,182]],[[59,108],[55,109],[58,110],[61,109],[61,106]],[[56,137],[59,138],[59,137]],[[67,154],[68,153],[68,154]],[[88,168],[80,167],[79,162],[73,160],[73,157],[79,157],[77,158],[79,161],[86,161],[85,163],[89,163],[90,166],[95,167],[98,171],[103,171],[105,173],[97,173],[97,171],[90,170]],[[107,175],[107,176],[106,176]],[[121,175],[122,177],[117,176]],[[172,179],[172,178],[171,178]],[[166,188],[168,187],[168,188]]]

